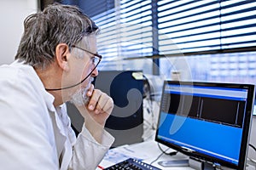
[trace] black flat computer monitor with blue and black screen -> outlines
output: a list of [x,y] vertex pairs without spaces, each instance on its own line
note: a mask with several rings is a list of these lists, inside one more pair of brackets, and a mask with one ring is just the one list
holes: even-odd
[[165,81],[155,140],[212,165],[245,169],[254,86]]

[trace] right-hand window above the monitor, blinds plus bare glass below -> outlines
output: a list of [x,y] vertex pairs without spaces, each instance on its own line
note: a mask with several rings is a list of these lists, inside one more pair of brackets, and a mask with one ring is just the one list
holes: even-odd
[[159,51],[166,56],[160,72],[167,79],[178,72],[184,80],[256,82],[255,1],[161,0],[157,6]]

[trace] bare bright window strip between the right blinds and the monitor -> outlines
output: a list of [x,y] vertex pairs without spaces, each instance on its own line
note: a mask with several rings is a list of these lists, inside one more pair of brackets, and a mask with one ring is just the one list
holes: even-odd
[[161,58],[160,72],[167,79],[179,72],[182,80],[255,84],[256,52]]

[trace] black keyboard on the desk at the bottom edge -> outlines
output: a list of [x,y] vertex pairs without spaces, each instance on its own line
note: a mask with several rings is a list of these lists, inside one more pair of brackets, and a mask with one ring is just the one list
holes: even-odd
[[116,170],[116,169],[124,169],[124,170],[160,170],[158,167],[154,167],[149,165],[148,163],[144,163],[143,161],[138,161],[136,159],[129,158],[125,161],[120,161],[119,163],[104,168],[104,170]]

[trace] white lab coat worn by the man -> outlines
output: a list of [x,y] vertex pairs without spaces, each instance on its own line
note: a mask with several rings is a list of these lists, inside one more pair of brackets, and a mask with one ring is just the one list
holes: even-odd
[[76,139],[65,105],[55,108],[32,66],[0,67],[1,169],[94,170],[113,137],[98,144],[83,127]]

